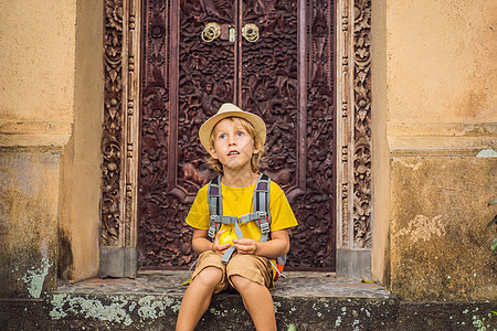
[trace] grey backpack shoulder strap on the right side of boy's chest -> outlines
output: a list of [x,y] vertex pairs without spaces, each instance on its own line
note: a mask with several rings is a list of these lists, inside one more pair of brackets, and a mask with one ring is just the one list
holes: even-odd
[[254,189],[253,207],[256,215],[253,220],[261,227],[261,242],[266,242],[271,232],[269,183],[269,178],[261,173]]

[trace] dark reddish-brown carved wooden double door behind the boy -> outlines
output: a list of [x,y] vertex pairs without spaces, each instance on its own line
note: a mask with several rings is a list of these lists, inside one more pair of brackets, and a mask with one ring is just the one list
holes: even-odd
[[233,102],[267,125],[263,171],[299,221],[288,266],[335,270],[332,1],[145,0],[142,8],[140,268],[193,263],[184,218],[214,175],[198,130]]

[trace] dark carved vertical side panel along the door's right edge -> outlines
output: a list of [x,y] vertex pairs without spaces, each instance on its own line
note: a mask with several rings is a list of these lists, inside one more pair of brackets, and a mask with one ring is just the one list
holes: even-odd
[[[295,260],[307,268],[335,270],[335,139],[334,139],[334,4],[311,1],[309,20],[309,81],[307,82],[307,193],[298,226],[303,243]],[[297,212],[298,213],[298,212]],[[314,238],[308,244],[309,236]],[[306,258],[305,250],[310,250]],[[302,261],[299,261],[302,264]]]

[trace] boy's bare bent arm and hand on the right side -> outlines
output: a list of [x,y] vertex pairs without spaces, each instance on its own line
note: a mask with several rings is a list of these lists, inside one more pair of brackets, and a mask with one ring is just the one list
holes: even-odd
[[240,254],[253,254],[267,258],[284,256],[289,249],[288,229],[278,229],[271,233],[271,241],[256,242],[254,239],[233,241],[236,245],[236,252]]

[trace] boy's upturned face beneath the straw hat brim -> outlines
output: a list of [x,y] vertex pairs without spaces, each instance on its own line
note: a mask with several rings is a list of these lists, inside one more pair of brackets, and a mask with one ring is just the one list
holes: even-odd
[[212,131],[213,145],[209,149],[212,158],[223,164],[223,170],[241,170],[247,168],[252,171],[251,159],[258,149],[254,139],[242,126],[237,118],[225,118],[218,122]]

